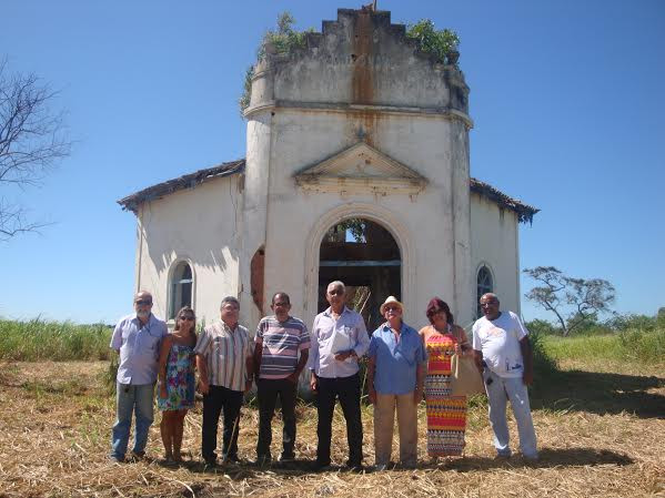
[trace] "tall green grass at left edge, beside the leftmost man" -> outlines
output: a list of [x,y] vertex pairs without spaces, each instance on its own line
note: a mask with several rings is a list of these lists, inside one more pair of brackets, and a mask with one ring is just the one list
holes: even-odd
[[39,362],[51,359],[109,359],[113,329],[103,324],[0,319],[0,359]]

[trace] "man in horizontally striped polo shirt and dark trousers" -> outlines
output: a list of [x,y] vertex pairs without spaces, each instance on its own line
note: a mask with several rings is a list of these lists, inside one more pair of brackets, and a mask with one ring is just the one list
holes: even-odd
[[[282,456],[280,461],[295,458],[295,397],[298,378],[308,363],[310,336],[303,321],[289,315],[291,301],[283,292],[272,297],[274,315],[261,319],[256,327],[254,368],[259,397],[259,440],[256,463],[270,464],[272,417],[278,396],[282,404]],[[300,357],[299,357],[300,354]]]

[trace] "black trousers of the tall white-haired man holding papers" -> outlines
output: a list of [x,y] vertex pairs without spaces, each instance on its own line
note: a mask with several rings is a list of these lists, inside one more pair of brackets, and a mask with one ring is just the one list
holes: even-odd
[[316,410],[319,424],[316,435],[316,461],[320,465],[330,465],[330,443],[332,438],[332,418],[335,400],[340,398],[342,413],[346,420],[346,440],[349,443],[349,460],[346,465],[357,467],[363,460],[363,425],[360,413],[360,375],[350,377],[325,378],[319,377],[319,393]]

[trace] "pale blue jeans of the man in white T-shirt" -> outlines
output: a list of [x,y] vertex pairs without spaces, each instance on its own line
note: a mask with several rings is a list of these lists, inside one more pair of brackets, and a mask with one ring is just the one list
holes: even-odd
[[[500,377],[485,368],[485,388],[490,402],[490,425],[494,431],[494,447],[500,456],[510,456],[508,424],[506,420],[506,405],[511,400],[511,407],[517,421],[517,434],[520,435],[520,450],[526,458],[537,458],[536,433],[531,418],[531,406],[528,405],[528,392],[522,382],[522,377]],[[490,380],[491,379],[491,380]],[[487,382],[490,383],[487,384]]]

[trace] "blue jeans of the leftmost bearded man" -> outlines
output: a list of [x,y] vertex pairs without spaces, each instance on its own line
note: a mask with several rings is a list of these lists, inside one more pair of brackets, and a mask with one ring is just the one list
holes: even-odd
[[132,425],[132,411],[137,424],[134,427],[133,451],[140,454],[145,450],[148,429],[152,425],[152,403],[154,398],[154,384],[120,384],[115,383],[115,424],[113,425],[113,450],[111,456],[122,460],[129,444],[129,429]]

